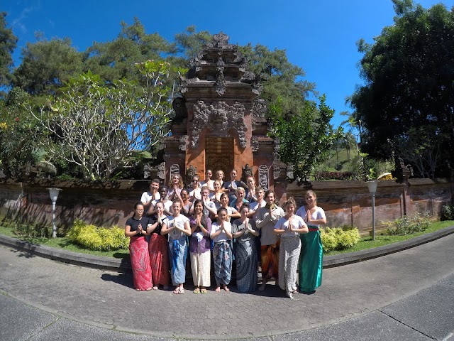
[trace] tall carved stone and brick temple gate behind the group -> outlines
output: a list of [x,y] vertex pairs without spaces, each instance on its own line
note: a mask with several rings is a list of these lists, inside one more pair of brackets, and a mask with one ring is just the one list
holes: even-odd
[[187,178],[196,172],[204,179],[206,169],[221,169],[226,180],[232,169],[237,179],[252,172],[265,188],[279,177],[275,143],[266,135],[267,107],[258,98],[259,77],[246,70],[247,60],[228,38],[215,34],[182,77],[183,97],[173,102],[176,117],[165,140],[165,183],[173,173]]

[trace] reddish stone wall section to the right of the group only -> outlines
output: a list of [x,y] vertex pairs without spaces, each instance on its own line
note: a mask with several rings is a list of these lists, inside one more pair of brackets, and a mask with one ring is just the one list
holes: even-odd
[[[372,196],[362,181],[313,181],[309,186],[287,185],[287,197],[293,196],[303,205],[306,190],[314,190],[318,205],[326,212],[328,226],[355,226],[365,233],[372,227]],[[428,213],[440,217],[443,205],[453,200],[453,183],[444,179],[410,179],[406,183],[378,181],[375,193],[375,224],[404,215]]]

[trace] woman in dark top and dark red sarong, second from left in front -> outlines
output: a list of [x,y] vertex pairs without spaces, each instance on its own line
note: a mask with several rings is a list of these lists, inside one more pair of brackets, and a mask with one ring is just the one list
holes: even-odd
[[150,218],[152,224],[147,227],[147,234],[150,235],[148,251],[150,252],[153,290],[157,290],[160,285],[167,290],[169,288],[169,244],[166,236],[161,235],[162,221],[167,217],[161,201],[156,202],[155,211],[156,214]]

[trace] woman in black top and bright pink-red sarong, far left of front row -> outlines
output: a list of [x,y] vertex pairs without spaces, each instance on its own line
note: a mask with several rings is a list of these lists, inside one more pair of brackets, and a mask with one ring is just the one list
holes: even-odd
[[134,206],[134,215],[126,221],[125,236],[130,237],[129,254],[133,269],[134,288],[137,291],[149,291],[153,287],[151,280],[150,255],[145,239],[150,220],[143,216],[143,203]]

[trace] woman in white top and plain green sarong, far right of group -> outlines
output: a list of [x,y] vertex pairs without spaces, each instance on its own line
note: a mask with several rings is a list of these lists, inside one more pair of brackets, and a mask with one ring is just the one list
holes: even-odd
[[326,224],[325,211],[317,206],[317,196],[312,190],[306,192],[306,205],[301,206],[297,215],[304,219],[309,233],[300,234],[301,254],[299,255],[299,291],[314,293],[321,286],[323,267],[323,246],[320,225]]

